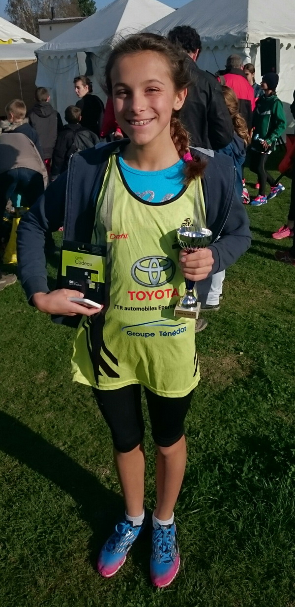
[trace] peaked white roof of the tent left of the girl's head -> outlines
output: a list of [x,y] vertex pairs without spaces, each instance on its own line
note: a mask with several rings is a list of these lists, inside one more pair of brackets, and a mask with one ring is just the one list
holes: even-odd
[[95,53],[116,33],[138,32],[153,21],[174,12],[158,0],[114,0],[67,32],[44,44],[38,56],[73,56],[87,50]]

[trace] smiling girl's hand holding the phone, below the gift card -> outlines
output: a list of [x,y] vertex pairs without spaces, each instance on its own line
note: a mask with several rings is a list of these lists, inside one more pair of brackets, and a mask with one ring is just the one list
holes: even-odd
[[84,316],[93,316],[99,314],[101,310],[97,308],[86,308],[84,305],[70,302],[68,297],[84,297],[80,291],[72,291],[71,289],[58,289],[51,293],[35,293],[32,300],[38,310],[46,314],[61,314],[62,316],[76,316],[76,314],[84,314]]

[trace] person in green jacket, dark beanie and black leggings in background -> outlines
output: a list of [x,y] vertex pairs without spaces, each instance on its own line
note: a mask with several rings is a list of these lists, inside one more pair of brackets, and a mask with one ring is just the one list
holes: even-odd
[[[259,194],[252,200],[251,205],[265,205],[268,200],[280,194],[285,188],[276,182],[266,171],[268,155],[276,148],[276,142],[287,127],[282,101],[276,95],[279,76],[269,72],[262,77],[261,88],[264,95],[259,97],[253,115],[254,137],[251,143],[250,170],[257,173]],[[270,184],[270,194],[265,195],[267,183]]]

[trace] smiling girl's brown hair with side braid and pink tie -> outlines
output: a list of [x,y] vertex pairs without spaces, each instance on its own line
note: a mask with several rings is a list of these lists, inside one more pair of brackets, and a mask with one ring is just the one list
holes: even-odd
[[[165,57],[170,67],[171,80],[176,91],[184,90],[190,84],[190,76],[187,72],[186,59],[187,54],[177,49],[174,44],[171,44],[167,38],[153,33],[138,33],[131,34],[126,38],[121,39],[111,51],[108,57],[107,65],[105,66],[105,91],[111,97],[111,70],[116,61],[124,56],[133,53],[140,53],[145,50],[150,50],[155,53],[160,53]],[[188,152],[190,137],[188,132],[182,126],[181,121],[177,118],[179,112],[173,111],[170,123],[170,134],[174,146],[179,153],[179,157],[184,157]],[[206,162],[201,160],[196,154],[192,155],[192,160],[185,163],[184,168],[184,183],[188,185],[190,181],[204,174]]]

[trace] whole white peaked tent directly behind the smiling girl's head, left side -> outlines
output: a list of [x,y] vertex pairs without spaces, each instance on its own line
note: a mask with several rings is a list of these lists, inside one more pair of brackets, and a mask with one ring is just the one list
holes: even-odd
[[[53,105],[62,116],[65,107],[77,101],[73,78],[79,73],[87,73],[93,92],[102,96],[101,69],[116,35],[139,32],[172,12],[158,0],[114,0],[38,49],[37,86],[50,88]],[[86,72],[85,52],[91,59],[90,72]]]

